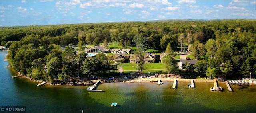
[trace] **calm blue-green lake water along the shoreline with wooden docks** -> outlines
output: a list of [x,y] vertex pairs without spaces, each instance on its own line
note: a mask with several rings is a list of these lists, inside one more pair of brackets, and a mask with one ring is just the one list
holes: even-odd
[[[26,106],[28,113],[170,113],[170,112],[243,112],[256,111],[256,86],[232,85],[228,92],[225,83],[219,83],[224,92],[211,92],[210,82],[105,83],[98,89],[106,92],[88,92],[88,86],[37,87],[37,82],[16,75],[3,61],[8,52],[0,52],[0,106]],[[111,103],[118,103],[111,107]]]

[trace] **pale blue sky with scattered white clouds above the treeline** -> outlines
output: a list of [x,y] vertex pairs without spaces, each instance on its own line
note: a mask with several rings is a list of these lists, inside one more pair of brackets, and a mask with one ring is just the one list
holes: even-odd
[[0,26],[256,19],[256,0],[0,0]]

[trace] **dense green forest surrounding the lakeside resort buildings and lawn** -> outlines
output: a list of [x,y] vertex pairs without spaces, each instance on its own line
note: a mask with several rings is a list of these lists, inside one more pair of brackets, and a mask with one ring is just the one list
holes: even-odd
[[[9,60],[15,70],[34,79],[52,80],[80,72],[86,76],[114,67],[110,57],[85,57],[81,45],[115,42],[122,47],[163,50],[170,44],[192,45],[197,64],[193,74],[250,76],[256,73],[256,20],[166,20],[124,23],[90,23],[1,27],[1,45],[9,47]],[[61,47],[78,45],[74,49]],[[46,68],[47,67],[47,71]],[[89,68],[90,67],[90,68]]]

